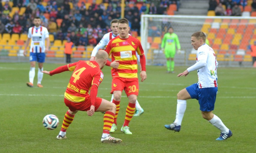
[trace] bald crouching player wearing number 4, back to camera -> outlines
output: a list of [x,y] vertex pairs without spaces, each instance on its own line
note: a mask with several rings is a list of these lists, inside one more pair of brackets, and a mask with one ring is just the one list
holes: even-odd
[[69,110],[65,114],[57,139],[62,140],[67,138],[66,130],[73,122],[75,114],[78,111],[87,111],[88,116],[93,116],[94,111],[105,111],[101,142],[122,142],[121,139],[111,137],[109,134],[114,122],[116,106],[105,99],[96,97],[99,84],[103,79],[101,69],[107,61],[108,53],[101,50],[96,54],[95,61],[80,60],[72,64],[60,66],[50,72],[42,71],[50,76],[64,71],[74,71],[64,94],[64,102],[69,107]]

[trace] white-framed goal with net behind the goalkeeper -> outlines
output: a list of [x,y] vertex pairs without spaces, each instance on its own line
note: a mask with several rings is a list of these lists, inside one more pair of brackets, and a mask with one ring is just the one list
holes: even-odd
[[256,41],[255,24],[256,17],[245,16],[142,15],[141,43],[147,65],[165,65],[161,43],[163,35],[171,26],[181,45],[181,54],[175,55],[175,65],[191,65],[195,63],[197,53],[191,46],[191,34],[203,31],[221,66],[249,66],[249,46]]

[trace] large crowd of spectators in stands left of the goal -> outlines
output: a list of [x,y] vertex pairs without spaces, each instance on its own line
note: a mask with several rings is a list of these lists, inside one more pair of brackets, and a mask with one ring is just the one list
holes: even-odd
[[[0,0],[1,2],[2,0]],[[33,26],[33,19],[39,16],[42,26],[47,27],[55,39],[71,39],[75,45],[96,45],[105,33],[111,31],[112,19],[120,19],[121,4],[118,0],[103,0],[102,4],[92,4],[87,8],[84,2],[78,0],[49,0],[44,6],[40,0],[13,0],[12,7],[26,7],[23,15],[15,12],[11,17],[11,7],[8,1],[0,3],[0,33],[27,33]],[[70,2],[73,8],[70,7]],[[108,3],[106,8],[104,3]],[[137,7],[140,3],[141,8]],[[142,14],[166,14],[170,4],[179,5],[179,0],[125,0],[125,18],[130,21],[131,31],[140,35],[140,16]],[[47,19],[48,18],[48,19]],[[62,19],[58,25],[57,20]]]

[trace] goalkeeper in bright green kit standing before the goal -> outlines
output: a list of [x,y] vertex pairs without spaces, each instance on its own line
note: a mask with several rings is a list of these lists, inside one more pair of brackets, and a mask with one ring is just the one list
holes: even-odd
[[164,34],[161,44],[161,48],[164,51],[166,57],[166,73],[174,73],[174,56],[176,53],[175,44],[177,45],[178,53],[181,53],[181,45],[178,36],[175,33],[173,33],[173,28],[169,27],[168,33]]

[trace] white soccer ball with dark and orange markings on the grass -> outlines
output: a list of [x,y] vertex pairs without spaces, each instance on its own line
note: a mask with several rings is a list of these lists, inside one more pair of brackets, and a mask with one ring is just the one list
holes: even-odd
[[59,125],[59,119],[53,114],[46,115],[43,119],[43,126],[48,130],[54,130]]

